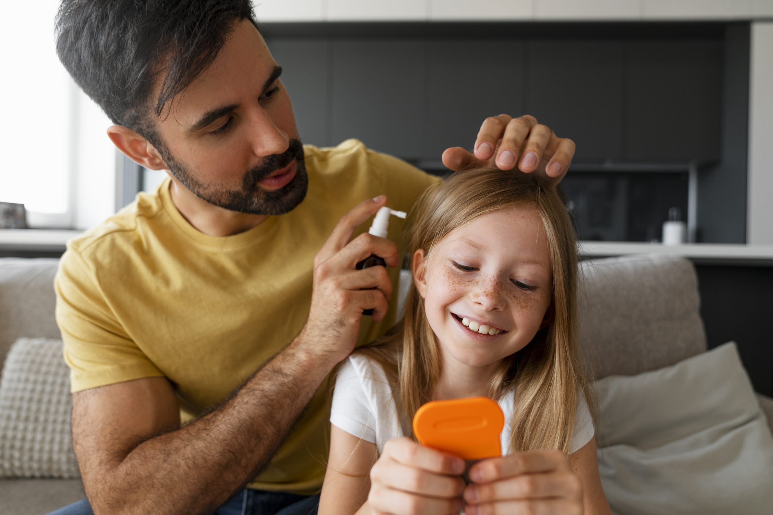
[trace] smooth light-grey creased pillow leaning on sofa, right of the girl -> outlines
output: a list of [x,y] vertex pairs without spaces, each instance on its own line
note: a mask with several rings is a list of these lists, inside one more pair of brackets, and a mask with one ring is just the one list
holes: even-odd
[[773,435],[734,342],[595,388],[613,513],[773,513]]

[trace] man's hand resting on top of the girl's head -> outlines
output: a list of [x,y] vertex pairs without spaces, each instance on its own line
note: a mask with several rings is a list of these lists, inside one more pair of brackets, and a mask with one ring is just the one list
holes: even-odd
[[507,114],[486,118],[475,140],[474,153],[464,148],[447,148],[443,164],[453,171],[481,166],[520,171],[537,171],[558,184],[574,157],[574,141],[557,137],[550,127],[537,124],[528,114],[513,118]]

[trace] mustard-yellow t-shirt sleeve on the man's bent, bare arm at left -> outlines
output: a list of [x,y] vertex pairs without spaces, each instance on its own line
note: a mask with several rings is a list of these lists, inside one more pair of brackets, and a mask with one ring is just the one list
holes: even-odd
[[76,249],[60,259],[54,278],[56,324],[74,392],[163,376],[131,340],[100,289],[93,266]]

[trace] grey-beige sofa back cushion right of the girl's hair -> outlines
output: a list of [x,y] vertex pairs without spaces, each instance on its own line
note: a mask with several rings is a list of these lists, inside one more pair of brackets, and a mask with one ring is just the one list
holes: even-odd
[[595,378],[656,370],[706,351],[693,264],[674,256],[580,263],[581,352]]

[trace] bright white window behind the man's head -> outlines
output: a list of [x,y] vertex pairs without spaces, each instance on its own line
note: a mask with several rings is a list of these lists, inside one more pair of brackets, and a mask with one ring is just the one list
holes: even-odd
[[24,204],[32,227],[85,229],[114,212],[115,148],[110,121],[56,56],[59,4],[3,5],[0,202]]

